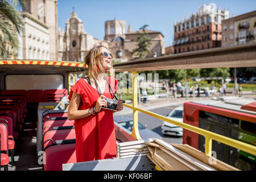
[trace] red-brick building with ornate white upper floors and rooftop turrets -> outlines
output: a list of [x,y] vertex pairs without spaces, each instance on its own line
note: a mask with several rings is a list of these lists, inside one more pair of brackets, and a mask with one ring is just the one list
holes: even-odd
[[221,46],[221,22],[229,18],[229,11],[216,10],[216,5],[199,6],[199,12],[174,22],[174,53],[197,51]]

